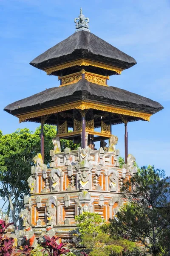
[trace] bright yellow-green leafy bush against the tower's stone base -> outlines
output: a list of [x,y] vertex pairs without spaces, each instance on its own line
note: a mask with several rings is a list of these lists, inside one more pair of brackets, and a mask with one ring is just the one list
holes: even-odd
[[97,236],[102,232],[100,225],[104,223],[104,220],[98,213],[83,212],[75,216],[75,221],[77,221],[77,227],[81,237],[85,234]]

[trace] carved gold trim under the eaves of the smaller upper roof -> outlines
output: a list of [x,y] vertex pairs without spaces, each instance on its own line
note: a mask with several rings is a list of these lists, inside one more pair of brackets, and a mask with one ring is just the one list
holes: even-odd
[[79,59],[76,61],[69,61],[69,62],[66,62],[63,64],[59,64],[54,67],[46,68],[46,69],[44,69],[44,71],[47,73],[47,75],[50,75],[51,73],[53,73],[55,71],[62,70],[62,69],[68,68],[68,67],[74,67],[74,66],[94,66],[94,67],[99,67],[99,68],[103,68],[106,70],[115,71],[119,75],[124,70],[120,67],[115,67],[112,65],[104,64],[102,62],[91,61],[88,59]]

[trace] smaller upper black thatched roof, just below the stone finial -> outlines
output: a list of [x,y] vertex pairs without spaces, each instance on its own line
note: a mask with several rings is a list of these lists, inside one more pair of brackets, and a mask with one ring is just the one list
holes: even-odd
[[68,61],[86,58],[127,69],[136,60],[88,31],[78,31],[34,58],[30,64],[41,70]]

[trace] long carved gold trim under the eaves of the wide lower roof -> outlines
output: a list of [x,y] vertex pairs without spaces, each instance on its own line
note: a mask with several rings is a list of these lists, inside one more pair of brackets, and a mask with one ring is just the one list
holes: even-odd
[[123,108],[116,108],[111,105],[97,104],[94,102],[86,102],[86,101],[71,102],[68,104],[59,105],[59,106],[52,107],[52,108],[45,108],[45,109],[41,109],[39,111],[28,112],[28,113],[24,113],[24,114],[16,115],[16,116],[19,118],[19,122],[24,122],[31,118],[45,116],[45,115],[49,115],[49,114],[53,114],[53,113],[71,110],[71,109],[85,110],[85,109],[90,109],[90,108],[96,109],[96,110],[101,110],[101,111],[106,111],[106,112],[110,112],[110,113],[122,114],[125,116],[135,116],[135,117],[142,118],[146,121],[149,121],[150,116],[152,116],[152,114],[149,114],[149,113],[131,111],[131,110],[123,109]]

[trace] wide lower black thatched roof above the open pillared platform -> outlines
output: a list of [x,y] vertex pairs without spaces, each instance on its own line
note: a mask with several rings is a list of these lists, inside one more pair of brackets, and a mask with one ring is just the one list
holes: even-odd
[[75,84],[53,87],[25,99],[11,103],[4,108],[12,115],[49,108],[78,100],[112,105],[133,111],[154,114],[163,109],[162,105],[127,90],[102,86],[81,79]]

